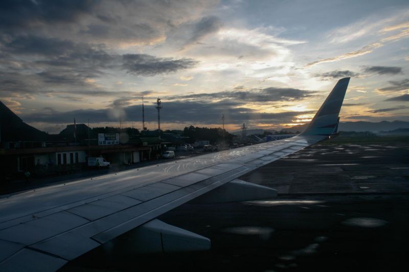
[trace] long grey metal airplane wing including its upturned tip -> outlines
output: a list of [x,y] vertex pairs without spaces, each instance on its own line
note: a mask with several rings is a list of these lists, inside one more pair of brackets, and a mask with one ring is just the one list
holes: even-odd
[[[290,139],[4,196],[0,199],[0,270],[56,270],[137,227],[154,229],[156,224],[166,229],[165,223],[152,220],[221,185],[248,186],[237,177],[336,132],[348,83],[349,78],[340,79],[306,130]],[[268,195],[274,192],[249,197]]]

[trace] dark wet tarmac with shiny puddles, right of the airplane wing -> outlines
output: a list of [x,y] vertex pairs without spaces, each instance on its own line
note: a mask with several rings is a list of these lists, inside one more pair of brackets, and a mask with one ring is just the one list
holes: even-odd
[[406,271],[409,146],[314,145],[241,177],[276,199],[195,205],[160,220],[212,241],[206,252],[101,248],[64,271]]

